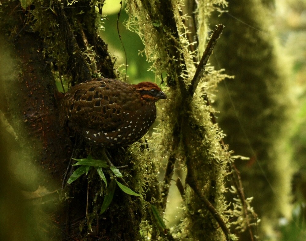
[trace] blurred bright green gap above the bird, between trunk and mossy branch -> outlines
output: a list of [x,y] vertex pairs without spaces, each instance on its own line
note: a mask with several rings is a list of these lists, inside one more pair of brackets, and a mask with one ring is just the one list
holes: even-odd
[[[102,14],[104,30],[100,31],[101,38],[108,44],[109,52],[116,57],[116,64],[119,66],[122,77],[125,77],[125,64],[127,64],[127,82],[139,83],[142,81],[154,81],[155,74],[153,71],[148,71],[150,63],[146,61],[146,57],[141,51],[144,45],[138,34],[131,32],[124,27],[124,22],[128,15],[123,8],[119,17],[117,31],[117,19],[120,10],[120,1],[105,1]],[[122,43],[120,42],[119,34],[121,35]],[[124,53],[124,49],[126,54]],[[126,62],[127,60],[127,62]]]

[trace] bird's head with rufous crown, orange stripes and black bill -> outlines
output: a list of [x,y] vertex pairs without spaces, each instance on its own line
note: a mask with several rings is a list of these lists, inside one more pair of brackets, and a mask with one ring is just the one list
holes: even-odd
[[156,83],[141,82],[133,85],[139,91],[141,97],[146,101],[158,101],[159,99],[167,99],[167,95],[161,91],[161,88]]

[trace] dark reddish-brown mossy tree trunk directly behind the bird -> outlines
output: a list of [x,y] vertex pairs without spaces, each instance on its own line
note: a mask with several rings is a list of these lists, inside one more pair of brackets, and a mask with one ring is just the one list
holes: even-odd
[[[139,239],[139,199],[117,188],[112,207],[99,216],[105,193],[100,177],[89,172],[88,177],[81,177],[72,185],[63,180],[66,172],[70,172],[68,177],[71,174],[70,158],[86,158],[90,151],[82,139],[71,139],[66,130],[59,128],[55,78],[60,75],[73,85],[98,75],[117,76],[114,60],[97,34],[101,17],[96,7],[102,9],[103,4],[77,1],[70,7],[62,1],[1,3],[1,61],[7,67],[2,69],[6,74],[1,75],[6,95],[1,109],[18,135],[16,144],[20,145],[23,158],[32,160],[35,174],[40,175],[26,187],[31,204],[37,197],[42,199],[36,203],[36,208],[42,209],[41,221],[28,227],[33,231],[29,236],[34,240],[40,240],[41,233],[56,240]],[[138,150],[144,152],[144,148]],[[143,182],[143,178],[137,177],[143,163],[137,163],[137,157],[126,155],[125,151],[110,153],[119,162],[128,161],[132,166],[132,171],[125,172],[125,180],[135,188],[137,180]],[[100,157],[99,150],[93,153]],[[32,174],[24,173],[28,179]],[[130,181],[132,176],[136,176],[136,181]]]

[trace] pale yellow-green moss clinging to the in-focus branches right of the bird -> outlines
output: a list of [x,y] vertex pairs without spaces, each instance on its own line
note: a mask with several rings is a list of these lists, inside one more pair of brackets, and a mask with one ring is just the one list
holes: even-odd
[[[163,5],[165,6],[169,7],[167,4]],[[180,32],[184,31],[185,27],[182,17],[179,16],[179,2],[172,1],[171,6],[179,37],[176,36],[175,29],[164,26],[164,16],[159,14],[161,6],[157,2],[131,1],[127,6],[127,12],[130,14],[127,26],[141,36],[145,44],[144,52],[147,59],[153,62],[152,67],[156,69],[156,76],[165,71],[179,85],[179,88],[176,88],[170,84],[170,87],[165,89],[168,100],[163,109],[161,124],[158,126],[160,134],[155,134],[154,138],[162,139],[164,156],[174,155],[180,168],[187,167],[194,170],[194,180],[197,186],[201,187],[199,191],[227,222],[229,216],[225,211],[229,207],[224,198],[226,192],[224,180],[229,173],[227,164],[230,161],[230,154],[220,144],[223,133],[216,124],[212,123],[211,113],[214,110],[206,105],[202,95],[206,95],[209,91],[209,95],[213,96],[212,90],[215,89],[216,83],[229,76],[208,67],[206,77],[201,80],[192,102],[189,103],[185,99],[183,87],[195,72],[192,61],[195,53],[189,52],[186,36],[184,32]],[[168,11],[171,11],[170,7]],[[205,40],[206,37],[201,36],[203,41],[201,44]],[[173,47],[179,51],[179,54],[169,56]],[[177,56],[179,59],[176,59]],[[176,61],[173,61],[174,59]],[[184,68],[187,71],[184,71]],[[180,70],[183,71],[179,72]],[[179,240],[225,239],[217,221],[188,185],[183,210],[184,219],[174,228],[173,233]],[[234,240],[235,235],[231,235],[229,239]]]

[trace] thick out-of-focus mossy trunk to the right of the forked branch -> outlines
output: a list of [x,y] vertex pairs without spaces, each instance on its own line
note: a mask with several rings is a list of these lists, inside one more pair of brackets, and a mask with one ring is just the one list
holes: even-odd
[[221,21],[226,28],[212,60],[235,76],[219,86],[218,122],[229,149],[250,157],[235,163],[247,196],[254,196],[261,235],[273,236],[278,218],[290,214],[292,168],[286,142],[293,106],[290,65],[272,30],[273,1],[262,2],[231,1],[228,13],[214,17],[213,23]]

